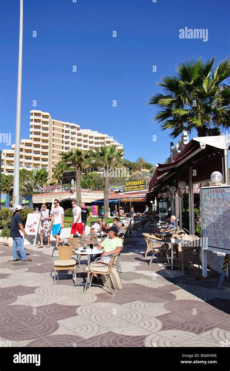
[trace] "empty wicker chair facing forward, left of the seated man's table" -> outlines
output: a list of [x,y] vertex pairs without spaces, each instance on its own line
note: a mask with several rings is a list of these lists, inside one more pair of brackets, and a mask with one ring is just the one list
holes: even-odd
[[[53,260],[53,253],[55,250],[58,250],[58,255],[60,260]],[[53,249],[52,252],[52,260],[54,264],[54,279],[53,284],[55,286],[56,282],[56,272],[57,272],[57,279],[58,279],[58,271],[66,270],[67,276],[68,271],[71,270],[73,272],[74,282],[76,283],[76,260],[71,259],[72,257],[72,246],[60,246]]]

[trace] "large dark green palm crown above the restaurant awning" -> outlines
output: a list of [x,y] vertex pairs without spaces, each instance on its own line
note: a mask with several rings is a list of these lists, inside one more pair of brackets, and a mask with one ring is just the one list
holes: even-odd
[[181,63],[175,75],[164,76],[158,83],[165,95],[149,99],[149,105],[160,108],[154,120],[162,123],[163,130],[171,129],[173,138],[192,129],[197,129],[199,137],[219,135],[221,127],[230,126],[230,88],[224,83],[230,76],[230,61],[213,66],[214,58],[206,63],[201,58]]

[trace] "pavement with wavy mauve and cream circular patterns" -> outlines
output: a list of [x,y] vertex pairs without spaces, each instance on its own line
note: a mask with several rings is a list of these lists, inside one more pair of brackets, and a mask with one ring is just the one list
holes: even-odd
[[[164,259],[144,259],[145,241],[130,237],[121,260],[123,288],[74,287],[59,273],[53,287],[51,248],[26,249],[31,263],[14,262],[0,245],[0,341],[16,347],[230,346],[230,282],[201,270],[171,270]],[[83,262],[82,262],[83,263]],[[77,281],[86,273],[77,268]],[[226,344],[226,345],[223,345]]]

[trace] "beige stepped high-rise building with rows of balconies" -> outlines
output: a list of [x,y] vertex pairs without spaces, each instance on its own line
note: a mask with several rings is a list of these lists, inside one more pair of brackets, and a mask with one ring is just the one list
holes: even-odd
[[[90,129],[81,129],[79,125],[54,120],[49,112],[32,110],[30,116],[30,139],[22,139],[20,144],[20,169],[46,169],[49,179],[52,169],[60,161],[61,152],[79,148],[88,151],[103,145],[123,145],[108,134],[101,134]],[[1,173],[14,173],[14,149],[4,149],[1,154]]]

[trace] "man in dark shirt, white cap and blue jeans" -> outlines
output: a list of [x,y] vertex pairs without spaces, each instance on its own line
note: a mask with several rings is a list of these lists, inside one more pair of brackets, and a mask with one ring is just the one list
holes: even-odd
[[[23,237],[20,233],[22,231],[24,237],[27,236],[26,231],[23,228],[22,218],[20,212],[22,210],[21,205],[17,205],[15,208],[15,212],[11,216],[11,227],[10,227],[10,236],[13,238],[13,259],[14,262],[18,262],[22,260],[23,262],[31,262],[32,259],[27,258],[24,246],[23,246]],[[21,258],[17,255],[17,247],[19,248],[19,252],[21,254]]]

